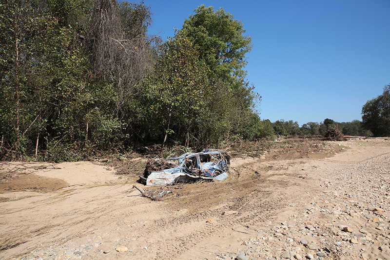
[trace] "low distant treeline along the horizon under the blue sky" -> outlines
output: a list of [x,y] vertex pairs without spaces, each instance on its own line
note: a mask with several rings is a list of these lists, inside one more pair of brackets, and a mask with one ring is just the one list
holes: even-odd
[[315,136],[324,135],[329,127],[337,128],[344,135],[351,136],[370,136],[370,130],[363,127],[363,123],[359,120],[351,122],[336,122],[331,119],[325,119],[321,123],[308,122],[299,127],[298,122],[292,120],[277,120],[272,123],[273,131],[276,135],[281,136]]

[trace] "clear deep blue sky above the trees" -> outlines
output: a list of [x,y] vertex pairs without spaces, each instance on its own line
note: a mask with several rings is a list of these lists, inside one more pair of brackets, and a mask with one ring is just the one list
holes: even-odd
[[390,0],[144,0],[150,34],[174,36],[194,9],[222,7],[241,20],[253,49],[248,80],[260,118],[361,120],[362,106],[390,83]]

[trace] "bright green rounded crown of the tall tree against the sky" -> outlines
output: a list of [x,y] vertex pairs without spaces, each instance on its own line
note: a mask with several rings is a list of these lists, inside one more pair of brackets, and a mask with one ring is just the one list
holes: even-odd
[[245,54],[252,49],[251,38],[239,20],[222,8],[199,6],[180,30],[199,46],[199,59],[204,60],[217,78],[243,79],[247,72]]

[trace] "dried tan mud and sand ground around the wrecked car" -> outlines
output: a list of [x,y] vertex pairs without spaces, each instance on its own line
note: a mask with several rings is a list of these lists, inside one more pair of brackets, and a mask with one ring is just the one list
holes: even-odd
[[[340,250],[329,252],[329,258],[360,257],[353,249],[348,251],[351,238],[344,240],[347,235],[332,231],[349,215],[328,216],[321,210],[332,203],[334,207],[352,203],[348,202],[348,195],[356,194],[352,184],[370,177],[364,175],[365,169],[375,161],[380,164],[384,160],[389,165],[389,140],[281,141],[278,148],[246,151],[239,147],[227,150],[233,155],[227,180],[181,185],[163,201],[140,197],[132,188],[134,184],[151,191],[156,188],[142,186],[136,176],[115,175],[105,165],[77,162],[23,166],[24,175],[0,181],[0,258],[190,260],[234,259],[245,253],[249,259],[282,259],[288,253],[293,259],[295,255],[315,256],[325,244],[334,247],[327,243],[336,243],[338,238],[343,242]],[[367,166],[355,170],[354,176],[362,173],[362,178],[353,180],[348,174],[359,163]],[[15,167],[22,166],[3,162],[0,174],[22,172]],[[386,169],[382,173],[385,179],[375,191],[382,200],[369,203],[367,196],[360,194],[352,203],[384,211],[380,216],[383,232],[376,230],[384,234],[381,245],[386,245],[390,234]],[[365,184],[359,185],[363,189]],[[321,204],[326,201],[327,205]],[[366,220],[359,218],[351,226],[368,229]],[[322,240],[310,232],[283,234],[280,223],[287,230],[308,225],[315,230],[320,225],[323,234],[334,234],[329,239],[324,237],[321,247]],[[292,241],[285,238],[288,236]],[[303,238],[316,243],[318,250],[302,245],[299,241]],[[355,251],[364,252],[359,250],[374,242],[361,242]],[[371,250],[367,259],[387,256],[386,249]]]

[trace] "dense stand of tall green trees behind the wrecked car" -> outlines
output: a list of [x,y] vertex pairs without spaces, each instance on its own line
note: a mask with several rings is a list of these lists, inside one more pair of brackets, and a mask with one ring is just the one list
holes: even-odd
[[147,35],[151,12],[143,3],[7,0],[0,7],[6,150],[81,160],[140,142],[201,147],[273,134],[245,79],[251,39],[223,9],[198,7],[160,45]]

